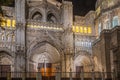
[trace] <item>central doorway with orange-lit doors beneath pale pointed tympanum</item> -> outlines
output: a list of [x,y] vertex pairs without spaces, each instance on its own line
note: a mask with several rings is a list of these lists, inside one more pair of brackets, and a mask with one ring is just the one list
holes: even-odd
[[47,55],[43,54],[39,57],[37,69],[43,80],[55,80],[55,68]]

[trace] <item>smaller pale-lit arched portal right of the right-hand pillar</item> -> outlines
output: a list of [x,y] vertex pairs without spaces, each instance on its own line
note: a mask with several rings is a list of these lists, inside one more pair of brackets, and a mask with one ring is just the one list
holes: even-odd
[[78,72],[91,72],[93,62],[89,53],[85,51],[79,52],[79,55],[74,60],[74,71]]

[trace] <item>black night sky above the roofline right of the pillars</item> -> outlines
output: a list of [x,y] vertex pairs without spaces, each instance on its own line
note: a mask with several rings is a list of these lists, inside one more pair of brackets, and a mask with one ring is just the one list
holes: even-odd
[[[61,0],[58,0],[61,2]],[[90,10],[95,10],[97,0],[67,0],[73,2],[73,14],[85,16]]]

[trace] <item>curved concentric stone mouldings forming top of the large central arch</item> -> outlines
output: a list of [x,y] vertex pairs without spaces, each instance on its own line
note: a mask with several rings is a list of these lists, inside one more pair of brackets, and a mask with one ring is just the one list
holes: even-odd
[[32,52],[29,53],[29,59],[37,61],[42,54],[46,54],[53,63],[60,61],[60,53],[58,50],[47,42],[37,44],[37,47],[35,46]]

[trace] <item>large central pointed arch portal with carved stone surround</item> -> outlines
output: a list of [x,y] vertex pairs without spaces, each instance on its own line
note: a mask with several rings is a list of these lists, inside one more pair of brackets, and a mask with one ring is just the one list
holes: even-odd
[[55,72],[56,67],[60,65],[60,53],[47,42],[38,44],[29,59],[29,71]]

